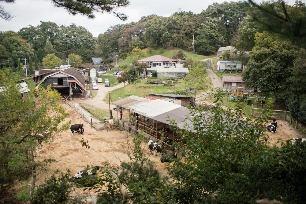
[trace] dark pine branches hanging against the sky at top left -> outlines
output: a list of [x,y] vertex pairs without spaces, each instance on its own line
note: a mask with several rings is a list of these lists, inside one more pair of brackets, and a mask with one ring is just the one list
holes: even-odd
[[[15,0],[2,0],[7,3],[15,2]],[[123,13],[117,13],[116,9],[118,7],[127,6],[129,4],[128,0],[52,0],[51,3],[56,7],[63,7],[70,14],[82,14],[88,16],[88,18],[95,18],[94,13],[114,13],[120,20],[126,20],[127,16]],[[3,6],[0,8],[1,18],[5,20],[11,20],[14,16],[12,16],[9,12],[7,12]]]

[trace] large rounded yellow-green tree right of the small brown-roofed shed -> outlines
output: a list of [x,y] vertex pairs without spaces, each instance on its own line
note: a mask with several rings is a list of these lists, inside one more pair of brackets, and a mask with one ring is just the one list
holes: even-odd
[[[264,96],[277,97],[286,92],[296,47],[279,35],[257,33],[242,80],[247,87],[260,87]],[[283,101],[282,99],[280,101]]]

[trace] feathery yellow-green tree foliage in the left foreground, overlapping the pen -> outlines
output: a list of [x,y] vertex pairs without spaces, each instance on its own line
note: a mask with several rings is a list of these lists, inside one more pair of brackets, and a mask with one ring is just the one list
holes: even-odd
[[[63,123],[68,115],[62,105],[56,103],[60,95],[54,90],[35,89],[34,82],[27,81],[30,92],[19,93],[16,81],[20,76],[10,70],[0,71],[0,192],[5,195],[18,179],[34,179],[35,171],[49,161],[36,163],[35,152],[52,141],[54,134],[68,129]],[[49,131],[45,134],[45,130]],[[42,135],[41,135],[42,134]]]

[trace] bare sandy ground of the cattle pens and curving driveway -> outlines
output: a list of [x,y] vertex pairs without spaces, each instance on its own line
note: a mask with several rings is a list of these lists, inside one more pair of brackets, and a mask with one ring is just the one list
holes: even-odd
[[[73,100],[73,103],[88,103],[100,107],[101,109],[108,110],[109,104],[104,102],[104,97],[108,91],[114,90],[118,87],[124,86],[119,84],[115,87],[104,87],[104,84],[99,84],[99,93],[94,99],[91,100]],[[53,171],[58,169],[65,172],[66,169],[71,170],[71,174],[74,175],[80,170],[84,170],[86,165],[100,166],[103,162],[109,162],[111,165],[119,166],[121,161],[129,161],[127,155],[128,142],[132,144],[132,136],[130,133],[120,131],[119,129],[113,129],[110,132],[104,130],[91,129],[90,125],[86,123],[78,114],[76,114],[71,108],[64,104],[66,110],[70,113],[70,116],[66,118],[65,122],[71,120],[72,124],[81,123],[84,124],[84,135],[75,134],[71,136],[70,130],[67,130],[61,135],[54,135],[55,139],[50,144],[45,144],[39,153],[37,153],[36,161],[42,161],[44,159],[55,159],[58,162],[48,164],[49,172],[38,171],[36,184],[42,184],[45,178],[49,178],[53,174]],[[111,105],[111,108],[114,105]],[[271,137],[271,144],[276,141],[286,141],[294,137],[304,137],[301,133],[296,131],[286,121],[277,121],[278,129],[276,133],[267,132]],[[84,138],[88,141],[89,149],[82,147],[80,141]],[[143,143],[143,150],[147,152],[147,143]],[[280,146],[278,144],[278,146]],[[159,161],[160,154],[155,158],[153,155],[148,157],[154,161],[157,165],[157,169],[162,174],[166,173],[165,164]],[[77,188],[75,194],[94,195],[94,191],[86,190],[83,192],[83,188]]]

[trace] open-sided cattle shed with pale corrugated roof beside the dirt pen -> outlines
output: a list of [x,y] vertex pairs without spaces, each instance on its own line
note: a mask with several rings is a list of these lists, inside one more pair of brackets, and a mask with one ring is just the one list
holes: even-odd
[[[182,128],[185,124],[185,118],[190,116],[190,111],[187,107],[160,99],[150,100],[130,96],[112,103],[133,112],[131,121],[129,118],[129,125],[132,126],[132,122],[135,120],[136,131],[141,129],[154,137],[158,136],[159,130],[166,128],[171,130],[172,122],[168,120],[175,120],[178,128]],[[173,132],[170,134],[174,136]]]

